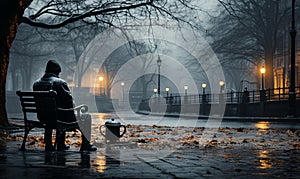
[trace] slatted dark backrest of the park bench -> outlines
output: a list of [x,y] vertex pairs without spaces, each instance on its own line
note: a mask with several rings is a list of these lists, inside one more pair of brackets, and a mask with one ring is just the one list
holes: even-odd
[[40,122],[56,125],[58,114],[55,91],[17,91],[16,93],[20,98],[24,120],[28,120],[26,113],[37,113]]

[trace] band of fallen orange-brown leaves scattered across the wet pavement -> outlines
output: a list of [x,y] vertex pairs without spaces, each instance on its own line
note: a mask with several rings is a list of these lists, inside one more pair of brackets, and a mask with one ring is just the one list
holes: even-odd
[[[168,127],[147,125],[126,125],[127,132],[121,141],[135,142],[139,147],[160,149],[178,147],[230,148],[236,145],[300,150],[300,129],[259,129],[259,128],[219,128]],[[98,127],[93,126],[91,142],[104,141]],[[97,130],[96,130],[97,129]],[[22,141],[23,135],[1,136],[3,141]],[[53,143],[55,133],[53,134]],[[80,132],[68,132],[66,144],[80,147]],[[43,131],[35,132],[27,138],[27,146],[44,147]],[[228,156],[224,156],[228,157]]]

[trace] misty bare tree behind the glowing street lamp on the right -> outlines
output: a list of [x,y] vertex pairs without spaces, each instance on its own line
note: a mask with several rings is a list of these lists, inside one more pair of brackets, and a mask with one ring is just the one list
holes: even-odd
[[[289,6],[284,0],[218,0],[228,12],[218,35],[220,53],[266,66],[266,87],[274,87],[273,57],[278,35],[287,26]],[[217,24],[220,25],[220,24]]]

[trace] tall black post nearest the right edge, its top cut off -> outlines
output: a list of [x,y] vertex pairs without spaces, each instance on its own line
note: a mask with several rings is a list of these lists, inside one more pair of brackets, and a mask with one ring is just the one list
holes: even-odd
[[295,29],[295,0],[292,0],[292,29],[291,36],[291,74],[290,74],[290,88],[289,88],[289,116],[296,116],[296,95],[295,95],[295,41],[297,31]]

